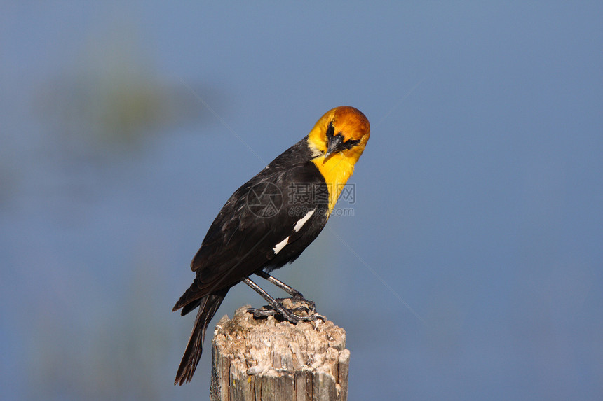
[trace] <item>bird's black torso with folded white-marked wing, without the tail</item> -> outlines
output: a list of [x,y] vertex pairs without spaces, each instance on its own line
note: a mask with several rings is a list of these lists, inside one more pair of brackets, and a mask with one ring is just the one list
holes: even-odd
[[[323,177],[309,161],[289,167],[279,164],[280,160],[291,160],[290,155],[283,155],[238,188],[224,204],[191,262],[196,278],[177,307],[229,288],[259,269],[275,269],[292,262],[323,230],[328,218],[327,199],[299,202],[290,193],[292,185],[326,193]],[[311,216],[302,227],[294,230],[309,212]],[[277,244],[280,248],[275,248]]]

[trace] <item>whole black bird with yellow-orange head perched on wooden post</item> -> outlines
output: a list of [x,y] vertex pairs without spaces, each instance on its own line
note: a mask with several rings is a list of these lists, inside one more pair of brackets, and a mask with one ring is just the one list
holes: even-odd
[[[314,302],[270,273],[296,260],[318,237],[369,137],[370,123],[361,111],[332,108],[226,201],[191,262],[195,279],[172,309],[182,309],[184,316],[198,307],[175,385],[191,381],[210,320],[241,281],[269,302],[269,309],[249,309],[256,317],[273,314],[293,324],[316,320]],[[287,309],[250,279],[253,274],[308,307]]]

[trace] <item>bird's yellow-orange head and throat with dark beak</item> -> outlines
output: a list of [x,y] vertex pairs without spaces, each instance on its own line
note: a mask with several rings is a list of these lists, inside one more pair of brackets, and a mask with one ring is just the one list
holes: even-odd
[[327,111],[308,134],[308,146],[315,156],[312,162],[329,188],[329,212],[335,207],[369,137],[369,120],[350,106]]

